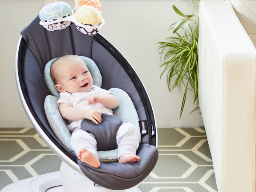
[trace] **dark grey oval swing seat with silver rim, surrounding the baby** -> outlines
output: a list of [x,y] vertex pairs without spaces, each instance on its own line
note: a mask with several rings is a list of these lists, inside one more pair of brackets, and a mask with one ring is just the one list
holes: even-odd
[[[37,16],[21,31],[15,69],[20,99],[32,125],[70,169],[85,175],[97,185],[112,190],[136,186],[151,172],[158,158],[154,112],[142,82],[121,53],[99,33],[93,36],[84,35],[74,24],[66,29],[51,32],[39,22],[40,18]],[[93,168],[77,159],[66,142],[69,132],[63,133],[63,130],[52,128],[56,124],[49,120],[52,114],[49,110],[46,113],[44,108],[47,105],[46,98],[54,98],[56,101],[57,97],[47,86],[44,69],[52,59],[67,54],[80,55],[92,60],[100,71],[101,87],[113,91],[113,94],[116,91],[119,97],[125,94],[130,98],[125,97],[124,101],[130,102],[127,106],[133,108],[137,114],[135,120],[132,118],[133,113],[122,115],[125,112],[121,111],[120,114],[126,118],[125,121],[132,119],[137,128],[142,130],[137,150],[139,162],[117,163],[114,157],[116,151],[111,154],[111,158],[104,154],[108,152],[102,151],[102,157],[107,156],[107,159],[100,159],[101,166]],[[114,113],[120,111],[120,108],[122,105],[119,105]],[[67,125],[65,119],[62,121]]]

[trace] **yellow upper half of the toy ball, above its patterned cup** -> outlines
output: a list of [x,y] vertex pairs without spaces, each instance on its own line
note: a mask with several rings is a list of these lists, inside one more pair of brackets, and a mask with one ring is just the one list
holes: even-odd
[[102,15],[92,6],[81,6],[75,12],[76,20],[83,24],[99,24],[102,23]]

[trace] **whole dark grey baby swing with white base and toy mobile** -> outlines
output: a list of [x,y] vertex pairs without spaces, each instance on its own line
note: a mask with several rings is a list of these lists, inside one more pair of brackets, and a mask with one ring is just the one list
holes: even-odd
[[[60,171],[12,183],[1,192],[140,192],[136,185],[157,163],[157,128],[145,88],[128,61],[99,35],[103,18],[97,17],[98,23],[78,22],[79,9],[84,9],[80,4],[76,1],[76,9],[59,19],[42,20],[42,14],[38,15],[21,31],[16,53],[15,73],[21,102],[35,130],[63,161]],[[61,11],[69,7],[64,2],[57,2],[44,9],[56,5]],[[140,129],[141,143],[137,150],[140,161],[117,163],[117,149],[98,151],[99,168],[77,159],[70,147],[67,121],[61,118],[55,105],[58,91],[49,77],[52,60],[67,54],[79,55],[86,62],[95,84],[119,98],[120,104],[113,112],[123,122],[134,123]]]

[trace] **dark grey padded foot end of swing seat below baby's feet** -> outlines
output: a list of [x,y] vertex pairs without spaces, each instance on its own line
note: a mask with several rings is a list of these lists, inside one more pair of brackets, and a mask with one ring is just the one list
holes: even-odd
[[140,144],[136,154],[140,157],[136,163],[101,163],[99,168],[77,160],[82,172],[93,182],[108,189],[123,190],[139,184],[157,163],[158,151],[154,145]]

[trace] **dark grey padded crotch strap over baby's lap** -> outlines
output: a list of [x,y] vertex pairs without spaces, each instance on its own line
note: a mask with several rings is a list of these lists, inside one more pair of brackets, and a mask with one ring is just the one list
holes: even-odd
[[84,119],[81,129],[94,135],[97,142],[97,151],[110,151],[116,149],[116,131],[122,120],[118,116],[102,113],[102,122],[98,125],[92,120]]

